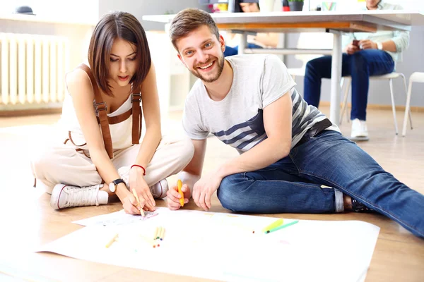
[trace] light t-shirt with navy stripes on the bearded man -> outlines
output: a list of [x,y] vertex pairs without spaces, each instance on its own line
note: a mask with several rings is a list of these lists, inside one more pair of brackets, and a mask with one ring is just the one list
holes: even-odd
[[[302,99],[277,56],[254,54],[225,59],[232,66],[233,79],[223,100],[213,101],[201,80],[187,96],[182,126],[190,138],[206,139],[208,133],[213,133],[240,153],[246,152],[267,137],[263,109],[287,92],[293,104],[292,148],[312,125],[326,118]],[[336,125],[326,129],[339,131]]]

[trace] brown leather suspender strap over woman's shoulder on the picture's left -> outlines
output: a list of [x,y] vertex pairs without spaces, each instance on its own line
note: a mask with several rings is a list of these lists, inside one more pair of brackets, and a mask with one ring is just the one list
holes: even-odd
[[95,99],[94,110],[96,114],[98,114],[98,118],[100,120],[100,128],[102,128],[103,142],[105,143],[107,155],[110,159],[113,159],[112,137],[110,135],[109,122],[107,121],[107,105],[105,102],[103,102],[98,84],[95,81],[94,75],[91,72],[90,68],[88,68],[88,66],[83,63],[81,63],[78,68],[81,68],[83,71],[85,71],[88,77],[90,78],[91,85],[93,86]]

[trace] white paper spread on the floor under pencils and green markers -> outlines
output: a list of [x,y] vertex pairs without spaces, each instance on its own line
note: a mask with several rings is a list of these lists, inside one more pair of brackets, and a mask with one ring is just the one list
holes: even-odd
[[[356,282],[365,281],[379,233],[363,221],[301,220],[264,234],[276,218],[167,208],[157,213],[145,220],[119,211],[76,221],[86,227],[37,251],[223,281]],[[158,226],[165,238],[153,248],[146,238],[153,239]],[[119,239],[106,248],[116,233]]]

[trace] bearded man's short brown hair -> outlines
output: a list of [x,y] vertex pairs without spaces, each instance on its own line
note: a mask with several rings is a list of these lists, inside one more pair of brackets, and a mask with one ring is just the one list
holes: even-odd
[[219,40],[218,27],[209,13],[195,8],[187,8],[177,13],[170,27],[170,37],[174,48],[178,51],[177,40],[186,37],[202,25],[207,25]]

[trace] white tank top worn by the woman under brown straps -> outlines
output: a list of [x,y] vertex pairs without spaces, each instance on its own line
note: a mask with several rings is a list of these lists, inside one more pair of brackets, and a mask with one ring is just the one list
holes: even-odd
[[[124,114],[126,111],[131,109],[131,95],[128,99],[122,104],[116,111],[107,114],[107,116],[118,116]],[[93,106],[94,111],[94,106]],[[110,135],[112,137],[112,147],[114,151],[118,149],[125,149],[132,146],[131,132],[132,132],[132,114],[129,118],[126,118],[125,121],[120,123],[110,124]],[[63,136],[63,140],[69,138],[69,131],[71,132],[71,137],[73,143],[78,145],[81,149],[88,149],[88,146],[79,146],[86,143],[86,140],[81,130],[81,125],[78,122],[76,117],[75,108],[73,107],[72,97],[69,92],[66,91],[65,99],[62,106],[62,114],[58,123],[59,130],[61,131],[60,135]],[[100,124],[99,124],[100,128]],[[101,132],[101,130],[100,130]],[[68,141],[69,142],[69,141]]]

